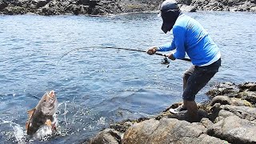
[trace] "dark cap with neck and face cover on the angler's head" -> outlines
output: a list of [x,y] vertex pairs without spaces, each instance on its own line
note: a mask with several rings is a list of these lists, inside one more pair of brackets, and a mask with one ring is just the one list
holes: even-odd
[[179,10],[176,1],[166,0],[162,2],[160,11],[161,13],[159,15],[162,17],[162,31],[167,33],[173,28],[176,19],[179,14],[181,14],[181,10]]

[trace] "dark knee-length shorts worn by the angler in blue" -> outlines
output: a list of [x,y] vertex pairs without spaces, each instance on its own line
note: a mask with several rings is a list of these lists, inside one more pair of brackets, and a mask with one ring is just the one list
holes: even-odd
[[218,61],[210,64],[209,66],[191,66],[184,73],[186,78],[186,88],[183,91],[182,98],[186,101],[194,101],[195,95],[198,91],[206,86],[210,78],[214,77],[214,74],[218,72],[218,68],[221,66],[221,58]]

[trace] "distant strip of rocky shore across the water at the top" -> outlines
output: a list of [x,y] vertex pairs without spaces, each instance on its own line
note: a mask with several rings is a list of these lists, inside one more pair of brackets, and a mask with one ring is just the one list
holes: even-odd
[[[105,15],[158,10],[162,0],[0,0],[0,14]],[[256,0],[178,0],[182,10],[256,12]]]

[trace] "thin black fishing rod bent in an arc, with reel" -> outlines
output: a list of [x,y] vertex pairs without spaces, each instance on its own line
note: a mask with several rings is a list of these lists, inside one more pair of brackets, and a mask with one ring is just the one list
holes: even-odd
[[[68,52],[66,52],[66,54],[63,54],[61,58],[59,58],[58,62],[60,62],[60,60],[65,57],[67,54],[70,54],[71,52],[75,51],[75,50],[88,50],[88,49],[115,49],[115,50],[130,50],[130,51],[138,51],[138,52],[143,52],[146,53],[146,50],[136,50],[136,49],[128,49],[128,48],[122,48],[122,47],[113,47],[113,46],[88,46],[88,47],[79,47],[77,49],[73,49],[70,50]],[[167,55],[166,54],[160,54],[160,53],[155,53],[156,55],[160,55],[160,56],[164,56],[164,62],[162,62],[162,64],[169,64],[168,59],[167,59]],[[181,60],[186,61],[186,62],[191,62],[190,58],[182,58]],[[57,64],[58,64],[57,62]]]

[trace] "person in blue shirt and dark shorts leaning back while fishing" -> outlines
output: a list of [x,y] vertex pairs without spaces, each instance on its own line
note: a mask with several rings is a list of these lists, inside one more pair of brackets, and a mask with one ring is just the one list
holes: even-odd
[[162,46],[152,46],[147,54],[155,54],[156,51],[175,52],[167,55],[171,60],[190,57],[193,66],[183,74],[183,104],[176,109],[170,109],[173,114],[186,115],[190,122],[197,122],[198,106],[195,95],[206,83],[218,72],[221,66],[221,54],[218,46],[214,43],[210,35],[194,18],[183,14],[177,2],[166,0],[160,7],[162,17],[162,31],[166,34],[173,31],[173,40]]

